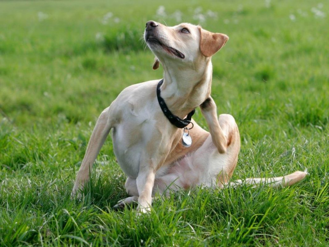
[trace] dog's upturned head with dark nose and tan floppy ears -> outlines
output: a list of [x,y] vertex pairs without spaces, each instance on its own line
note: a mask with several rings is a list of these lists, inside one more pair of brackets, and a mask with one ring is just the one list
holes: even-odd
[[[208,60],[228,41],[228,36],[212,33],[190,23],[167,27],[155,21],[148,21],[144,32],[147,46],[164,63],[190,66],[195,61]],[[155,60],[153,69],[159,67]]]

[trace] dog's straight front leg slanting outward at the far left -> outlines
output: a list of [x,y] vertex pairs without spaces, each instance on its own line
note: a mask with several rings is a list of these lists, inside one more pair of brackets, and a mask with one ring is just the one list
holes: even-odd
[[[111,106],[110,106],[111,107]],[[81,189],[89,180],[92,164],[94,163],[97,154],[103,146],[106,137],[108,136],[112,123],[110,119],[110,107],[106,108],[99,116],[96,126],[92,131],[85,157],[81,163],[77,177],[75,179],[74,187],[71,196],[81,196]]]

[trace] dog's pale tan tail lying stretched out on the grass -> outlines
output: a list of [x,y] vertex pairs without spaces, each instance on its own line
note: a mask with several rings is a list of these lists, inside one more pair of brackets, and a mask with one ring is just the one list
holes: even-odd
[[251,184],[251,185],[257,185],[257,184],[268,184],[272,187],[279,187],[279,186],[289,186],[296,182],[299,182],[305,176],[307,175],[307,170],[304,172],[297,171],[294,173],[291,173],[289,175],[283,176],[283,177],[276,177],[276,178],[246,178],[245,180],[237,180],[229,182],[230,186],[237,187],[242,184]]

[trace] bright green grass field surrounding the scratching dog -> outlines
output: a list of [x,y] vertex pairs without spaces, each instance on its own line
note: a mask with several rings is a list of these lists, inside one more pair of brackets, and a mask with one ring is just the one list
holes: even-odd
[[[328,1],[1,1],[0,246],[328,246],[328,18]],[[137,216],[112,209],[127,194],[109,137],[84,200],[71,200],[100,112],[162,78],[141,39],[150,19],[230,37],[212,96],[240,128],[233,180],[309,176],[179,191]]]

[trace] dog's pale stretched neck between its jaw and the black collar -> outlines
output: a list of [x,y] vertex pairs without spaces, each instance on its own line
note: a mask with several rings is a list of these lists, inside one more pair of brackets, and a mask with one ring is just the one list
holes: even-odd
[[163,64],[164,83],[161,97],[169,110],[180,118],[210,96],[213,67],[208,59],[203,68],[168,67]]

